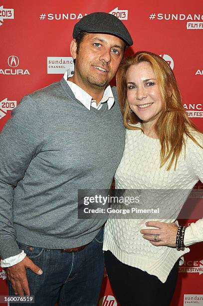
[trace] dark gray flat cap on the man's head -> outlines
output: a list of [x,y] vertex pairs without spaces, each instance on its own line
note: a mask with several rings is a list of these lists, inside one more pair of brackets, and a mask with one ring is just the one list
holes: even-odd
[[103,11],[82,17],[74,26],[73,38],[76,38],[81,30],[89,33],[112,34],[123,39],[127,45],[133,44],[133,39],[123,22],[115,15]]

